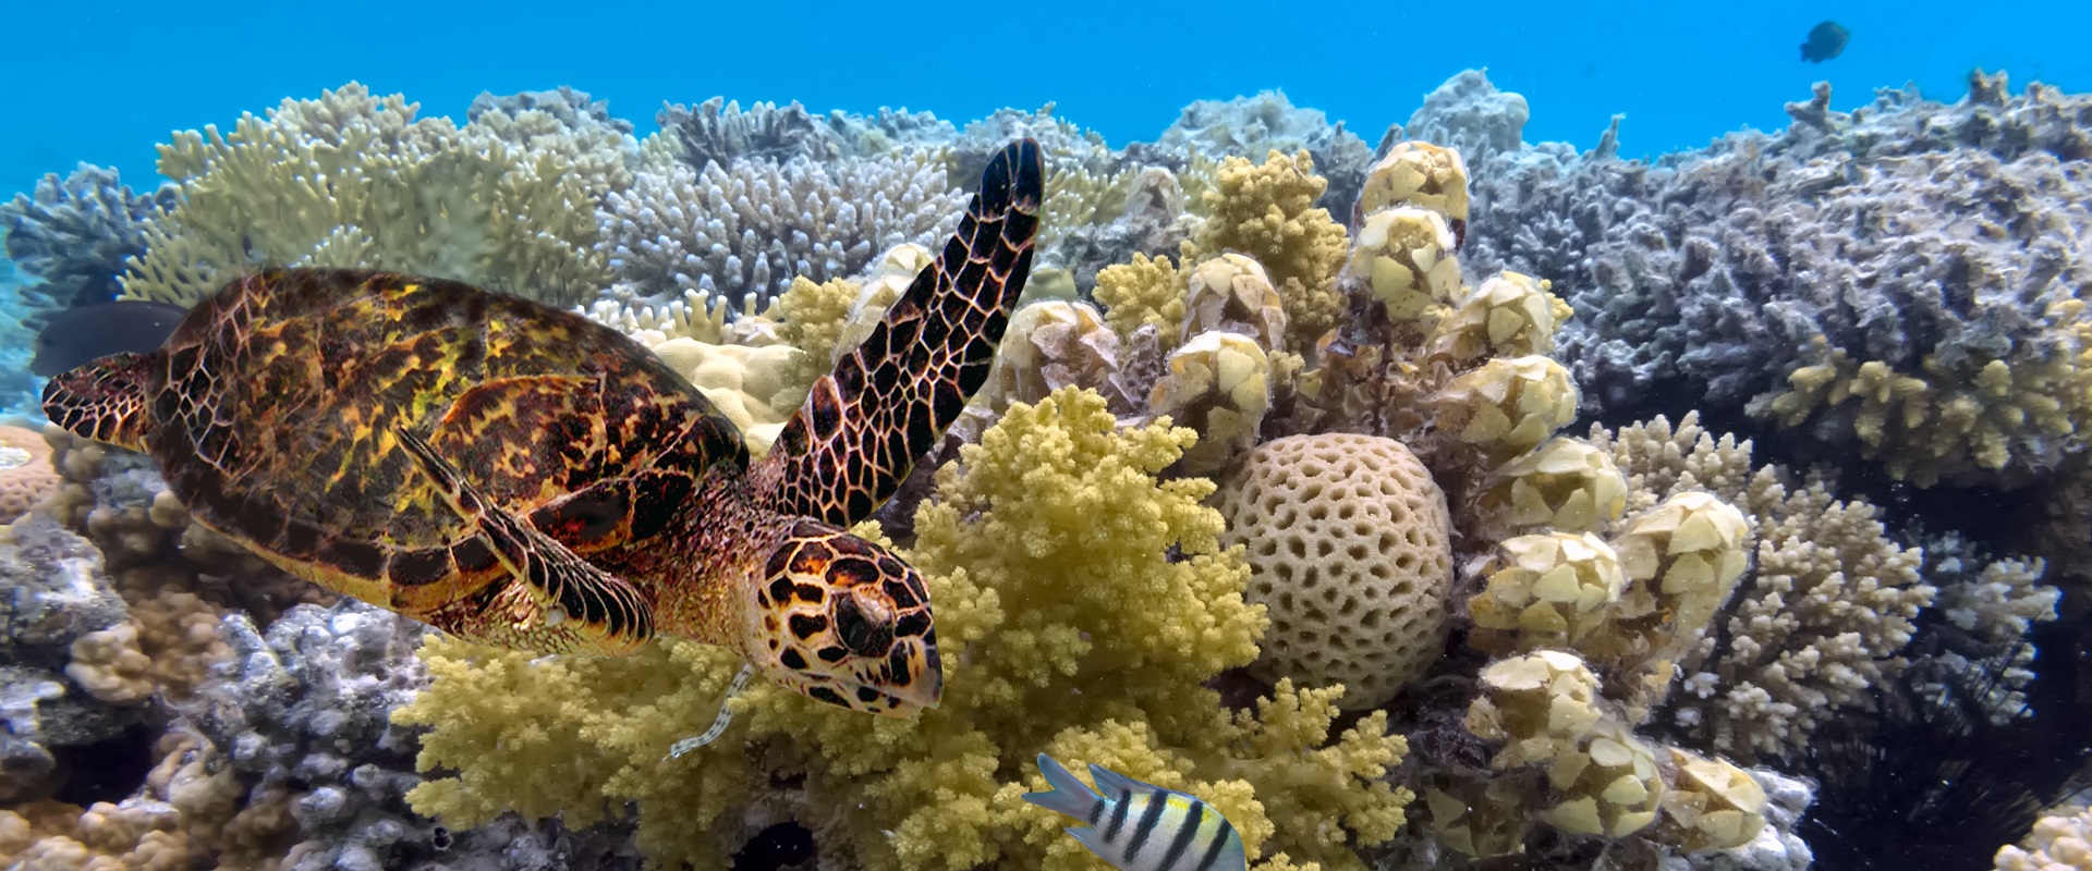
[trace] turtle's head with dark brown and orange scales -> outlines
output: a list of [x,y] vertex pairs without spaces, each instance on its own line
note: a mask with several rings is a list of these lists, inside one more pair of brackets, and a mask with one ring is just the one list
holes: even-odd
[[793,520],[749,585],[749,662],[843,708],[908,716],[943,696],[923,574],[885,547]]

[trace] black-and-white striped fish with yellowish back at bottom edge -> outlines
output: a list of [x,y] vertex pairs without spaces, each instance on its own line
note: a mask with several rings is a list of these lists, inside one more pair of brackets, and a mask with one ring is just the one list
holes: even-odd
[[1046,754],[1040,754],[1040,773],[1052,792],[1027,792],[1025,800],[1090,823],[1069,827],[1067,833],[1121,871],[1249,867],[1243,835],[1234,833],[1220,810],[1192,796],[1140,783],[1100,764],[1090,767],[1090,779],[1096,781],[1092,792]]

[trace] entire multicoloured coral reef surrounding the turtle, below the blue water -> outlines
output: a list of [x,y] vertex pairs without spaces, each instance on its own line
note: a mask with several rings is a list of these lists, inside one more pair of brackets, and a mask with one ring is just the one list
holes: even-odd
[[[736,691],[680,641],[473,648],[276,572],[142,457],[0,428],[0,865],[1094,869],[1019,798],[1050,752],[1211,802],[1259,871],[1805,869],[1854,783],[1908,783],[1839,754],[1931,748],[1895,716],[2071,714],[2086,113],[1820,86],[1784,132],[1621,161],[1617,117],[1523,142],[1479,71],[1379,148],[1274,92],[1115,150],[1052,104],[713,98],[638,142],[571,88],[460,127],[351,84],[176,134],[151,196],[46,178],[0,207],[31,309],[126,257],[184,303],[253,261],[435,272],[626,332],[761,453],[952,173],[1048,161],[987,382],[858,528],[931,587],[941,708]],[[2046,499],[2033,556],[1939,485]],[[2079,867],[2086,825],[1996,863]]]

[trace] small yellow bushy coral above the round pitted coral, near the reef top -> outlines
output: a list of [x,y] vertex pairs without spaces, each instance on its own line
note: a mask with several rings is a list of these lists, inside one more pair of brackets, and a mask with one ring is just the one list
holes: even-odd
[[1199,249],[1238,251],[1264,263],[1284,299],[1295,349],[1314,347],[1345,311],[1337,272],[1347,240],[1343,223],[1314,207],[1324,188],[1328,182],[1314,173],[1305,150],[1293,157],[1272,150],[1261,165],[1226,159],[1215,188],[1205,192]]

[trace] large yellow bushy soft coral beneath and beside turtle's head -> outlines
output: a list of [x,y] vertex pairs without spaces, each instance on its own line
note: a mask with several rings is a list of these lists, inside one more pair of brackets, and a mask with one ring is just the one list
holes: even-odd
[[1042,838],[1061,823],[1017,798],[1031,756],[1061,748],[1215,783],[1272,867],[1291,867],[1284,850],[1362,869],[1337,838],[1400,827],[1408,796],[1381,777],[1402,739],[1368,716],[1324,746],[1333,693],[1280,687],[1238,719],[1201,687],[1255,656],[1264,620],[1241,599],[1241,556],[1218,545],[1220,516],[1199,505],[1211,485],[1155,478],[1188,441],[1161,424],[1117,430],[1102,397],[1069,389],[1013,405],[937,472],[908,558],[937,604],[948,691],[914,721],[749,687],[720,741],[667,758],[736,668],[715,648],[531,660],[431,639],[433,685],[397,721],[431,727],[420,767],[446,773],[412,802],[475,825],[508,808],[588,823],[605,798],[638,800],[640,848],[699,869],[726,867],[778,819],[808,825],[826,867],[1073,869],[1067,844]]

